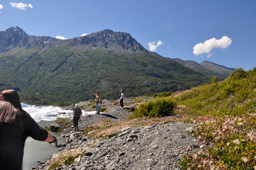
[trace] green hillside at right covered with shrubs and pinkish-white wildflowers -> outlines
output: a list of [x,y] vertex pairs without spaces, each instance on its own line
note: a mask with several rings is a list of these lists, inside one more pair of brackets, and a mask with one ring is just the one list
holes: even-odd
[[195,127],[188,132],[215,143],[204,153],[188,153],[182,170],[256,169],[256,68],[230,73],[225,81],[204,84],[174,95],[177,112]]

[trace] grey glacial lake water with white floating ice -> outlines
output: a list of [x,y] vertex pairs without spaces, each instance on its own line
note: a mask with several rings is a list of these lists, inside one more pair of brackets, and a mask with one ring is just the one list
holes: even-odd
[[[41,126],[49,126],[52,123],[55,123],[57,118],[72,118],[72,110],[61,110],[59,107],[37,107],[27,104],[21,104],[23,110],[29,113],[31,117]],[[84,112],[82,110],[82,115],[95,114],[93,112]],[[49,132],[52,135],[56,136],[58,143],[64,144],[65,139],[61,139],[58,135]],[[30,170],[31,167],[37,167],[40,161],[45,162],[49,159],[49,156],[52,156],[53,153],[58,153],[58,147],[55,147],[55,144],[52,143],[49,145],[48,142],[36,141],[30,137],[26,139],[24,147],[24,156],[23,156],[23,170]]]

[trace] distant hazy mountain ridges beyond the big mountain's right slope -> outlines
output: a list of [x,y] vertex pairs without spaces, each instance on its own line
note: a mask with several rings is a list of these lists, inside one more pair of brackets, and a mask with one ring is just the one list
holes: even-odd
[[[189,67],[190,69],[195,70],[196,72],[201,72],[202,74],[204,74],[207,77],[211,77],[211,78],[216,77],[219,80],[224,80],[224,79],[228,78],[229,73],[232,70],[235,70],[233,68],[228,68],[228,67],[222,66],[223,68],[225,68],[225,69],[227,68],[227,70],[231,70],[231,71],[230,72],[225,72],[225,73],[224,72],[218,72],[218,69],[212,69],[212,68],[217,68],[220,65],[209,62],[209,61],[203,61],[202,64],[201,63],[199,64],[199,63],[197,63],[195,61],[192,61],[192,60],[184,61],[180,58],[167,58],[167,57],[165,57],[165,58],[169,59],[169,60],[176,61],[178,63],[181,63],[183,66]],[[207,62],[209,62],[211,65],[215,65],[216,67],[208,66]]]

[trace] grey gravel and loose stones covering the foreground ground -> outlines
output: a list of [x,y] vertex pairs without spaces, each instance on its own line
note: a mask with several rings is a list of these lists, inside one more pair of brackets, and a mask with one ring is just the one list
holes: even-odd
[[[145,100],[151,99],[144,98]],[[129,102],[130,106],[120,109],[119,105],[113,105],[112,101],[105,101],[107,112],[81,116],[79,130],[82,131],[90,127],[90,124],[103,119],[124,120],[132,114],[128,112],[128,108],[136,105],[132,103],[132,99],[126,100],[127,105]],[[87,103],[90,104],[88,101]],[[212,145],[205,141],[198,142],[189,135],[186,129],[191,126],[192,124],[169,122],[145,127],[126,127],[119,130],[119,135],[104,140],[88,139],[81,132],[75,133],[71,126],[60,133],[61,138],[66,138],[66,143],[60,144],[60,150],[72,152],[79,148],[87,150],[84,156],[76,158],[75,163],[56,170],[179,170],[177,161],[186,152],[204,154],[203,148]],[[42,162],[40,166],[32,169],[47,170],[48,164],[49,162]]]

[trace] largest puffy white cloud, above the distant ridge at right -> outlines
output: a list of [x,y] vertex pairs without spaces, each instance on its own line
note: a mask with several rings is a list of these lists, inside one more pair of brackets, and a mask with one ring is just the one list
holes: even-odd
[[210,52],[213,48],[222,48],[225,49],[230,46],[232,40],[223,36],[221,39],[216,40],[215,38],[206,40],[204,43],[199,43],[194,46],[194,55],[201,55],[203,53]]

